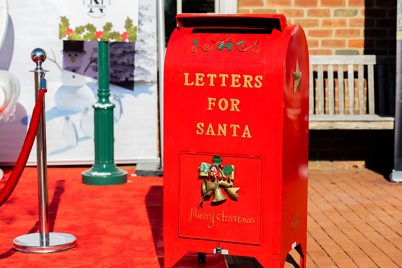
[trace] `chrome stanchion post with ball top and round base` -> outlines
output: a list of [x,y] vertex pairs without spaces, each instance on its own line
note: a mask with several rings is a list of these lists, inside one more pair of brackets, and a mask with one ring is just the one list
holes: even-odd
[[[42,62],[46,59],[46,52],[36,48],[31,53],[36,68],[31,70],[35,75],[35,101],[39,98],[39,90],[47,88]],[[47,192],[47,153],[46,153],[46,117],[45,99],[42,102],[42,114],[36,134],[36,157],[38,175],[39,201],[39,233],[30,233],[14,239],[14,248],[25,252],[56,252],[66,250],[76,245],[76,238],[70,234],[49,233],[49,203]]]

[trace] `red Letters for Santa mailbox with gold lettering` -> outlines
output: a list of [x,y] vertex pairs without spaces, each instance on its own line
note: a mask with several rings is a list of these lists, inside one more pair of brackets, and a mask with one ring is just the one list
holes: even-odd
[[308,51],[283,15],[177,16],[166,51],[165,267],[188,251],[305,267]]

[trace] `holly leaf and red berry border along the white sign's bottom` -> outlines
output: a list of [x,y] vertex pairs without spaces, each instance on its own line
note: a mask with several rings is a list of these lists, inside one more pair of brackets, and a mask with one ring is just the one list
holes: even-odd
[[120,33],[112,30],[112,23],[108,22],[102,29],[97,29],[93,24],[70,28],[70,23],[66,17],[60,17],[59,39],[67,37],[67,40],[75,41],[105,41],[105,42],[136,42],[137,27],[133,26],[133,21],[127,17],[124,28],[126,31]]

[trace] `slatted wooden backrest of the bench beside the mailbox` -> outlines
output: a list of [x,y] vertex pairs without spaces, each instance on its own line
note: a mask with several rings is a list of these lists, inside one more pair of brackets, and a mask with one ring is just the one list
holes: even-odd
[[[393,106],[394,84],[389,84],[389,94],[386,96],[389,103],[386,103],[384,65],[394,66],[394,59],[392,56],[376,55],[310,55],[310,115],[392,114],[392,108],[385,109],[385,106]],[[375,76],[376,64],[378,67]],[[392,71],[385,74],[392,76]],[[376,92],[375,79],[378,79]],[[375,101],[374,98],[378,100]],[[376,104],[379,106],[377,109]]]

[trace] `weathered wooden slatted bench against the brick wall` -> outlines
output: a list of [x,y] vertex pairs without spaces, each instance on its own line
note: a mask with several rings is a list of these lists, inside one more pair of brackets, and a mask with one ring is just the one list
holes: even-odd
[[310,55],[309,60],[310,129],[393,129],[395,57]]

